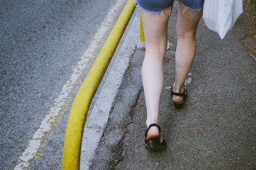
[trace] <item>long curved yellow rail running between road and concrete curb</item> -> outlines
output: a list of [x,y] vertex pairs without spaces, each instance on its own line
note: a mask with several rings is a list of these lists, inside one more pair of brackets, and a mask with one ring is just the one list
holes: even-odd
[[86,76],[83,85],[76,94],[65,134],[62,159],[62,168],[64,170],[79,169],[83,129],[90,103],[124,34],[134,9],[134,0],[128,0],[106,43],[93,63],[90,72]]

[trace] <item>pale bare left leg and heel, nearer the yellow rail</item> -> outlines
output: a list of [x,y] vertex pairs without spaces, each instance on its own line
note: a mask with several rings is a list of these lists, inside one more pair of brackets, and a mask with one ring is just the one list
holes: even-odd
[[[147,107],[147,127],[159,124],[159,102],[163,92],[163,58],[167,46],[167,30],[170,9],[159,14],[141,10],[145,34],[146,52],[141,67],[143,89]],[[148,131],[148,138],[159,136],[157,127]]]

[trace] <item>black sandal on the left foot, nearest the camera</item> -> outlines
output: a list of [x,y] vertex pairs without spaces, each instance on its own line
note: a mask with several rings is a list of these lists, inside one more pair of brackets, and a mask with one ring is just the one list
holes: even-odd
[[[151,138],[151,139],[147,139],[147,134],[148,131],[151,127],[156,126],[158,128],[159,131],[159,136],[157,138]],[[160,136],[161,136],[161,127],[157,124],[151,124],[148,126],[147,131],[145,132],[145,146],[148,150],[161,150],[166,148],[166,142],[163,139],[163,142],[160,143]]]

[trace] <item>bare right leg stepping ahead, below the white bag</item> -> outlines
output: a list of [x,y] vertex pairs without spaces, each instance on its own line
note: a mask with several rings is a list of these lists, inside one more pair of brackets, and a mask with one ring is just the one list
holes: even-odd
[[[178,43],[175,55],[175,82],[173,92],[182,93],[186,76],[193,64],[196,53],[196,29],[202,17],[201,11],[193,11],[179,1],[179,15],[176,27]],[[173,101],[181,102],[183,97],[173,96]]]

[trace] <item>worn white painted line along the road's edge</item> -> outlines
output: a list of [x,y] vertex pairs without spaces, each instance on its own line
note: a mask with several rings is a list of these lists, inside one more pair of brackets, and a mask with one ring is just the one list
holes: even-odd
[[70,95],[72,89],[74,89],[74,85],[76,84],[77,80],[79,80],[79,78],[81,78],[83,75],[88,61],[96,57],[95,53],[98,50],[99,43],[104,39],[104,36],[109,29],[109,25],[113,23],[113,20],[116,17],[116,12],[122,7],[124,2],[124,0],[116,1],[115,6],[108,11],[108,15],[106,15],[104,18],[87,50],[83,53],[81,59],[74,67],[70,80],[68,80],[62,87],[60,95],[54,100],[54,104],[52,104],[49,112],[45,116],[44,120],[42,120],[40,127],[37,129],[35,134],[33,134],[33,138],[29,141],[29,145],[20,156],[15,170],[26,169],[26,167],[29,166],[29,160],[33,159],[38,152],[45,133],[51,131],[52,124],[56,121],[56,117],[60,115],[61,109],[65,107],[65,102],[67,102],[68,96]]

